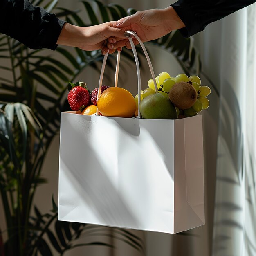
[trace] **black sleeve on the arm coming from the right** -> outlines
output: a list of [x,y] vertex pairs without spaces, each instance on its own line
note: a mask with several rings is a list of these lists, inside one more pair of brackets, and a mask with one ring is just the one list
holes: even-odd
[[171,6],[186,26],[180,32],[189,37],[202,31],[207,24],[254,2],[256,0],[179,0]]

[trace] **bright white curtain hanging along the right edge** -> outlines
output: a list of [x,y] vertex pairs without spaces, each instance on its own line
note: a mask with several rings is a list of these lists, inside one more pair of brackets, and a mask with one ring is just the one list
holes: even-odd
[[256,255],[255,15],[222,21],[213,256]]

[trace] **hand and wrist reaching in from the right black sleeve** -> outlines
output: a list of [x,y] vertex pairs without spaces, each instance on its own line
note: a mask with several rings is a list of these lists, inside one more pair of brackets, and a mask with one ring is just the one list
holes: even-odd
[[[117,27],[124,30],[135,31],[142,42],[160,38],[175,29],[185,27],[173,7],[165,9],[153,9],[146,11],[138,11],[135,14],[122,18],[117,21]],[[133,39],[135,45],[138,44]],[[126,46],[131,49],[128,39],[117,40],[114,48]]]

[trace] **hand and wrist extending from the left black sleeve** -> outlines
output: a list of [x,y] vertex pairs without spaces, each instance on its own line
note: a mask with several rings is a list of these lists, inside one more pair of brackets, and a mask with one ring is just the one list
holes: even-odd
[[78,47],[82,50],[92,51],[101,49],[102,54],[107,51],[115,52],[114,44],[117,40],[127,39],[124,36],[124,29],[116,27],[117,22],[106,22],[103,24],[78,27],[65,23],[57,40],[59,45]]

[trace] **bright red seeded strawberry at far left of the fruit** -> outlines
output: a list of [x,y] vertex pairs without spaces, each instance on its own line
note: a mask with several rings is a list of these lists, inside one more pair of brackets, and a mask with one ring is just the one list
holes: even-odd
[[80,107],[87,106],[90,103],[90,94],[82,86],[75,86],[67,94],[67,101],[72,110],[79,110]]

